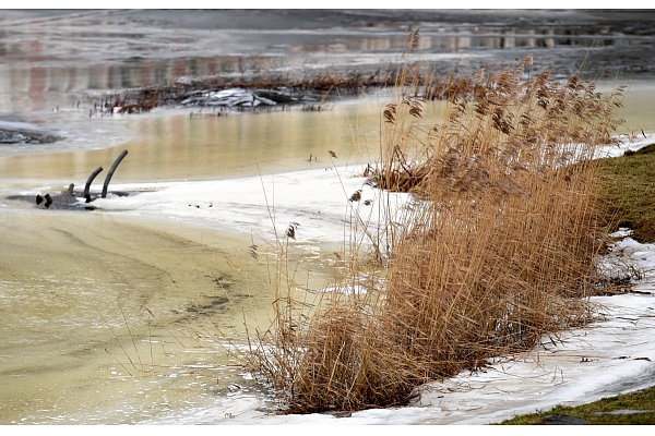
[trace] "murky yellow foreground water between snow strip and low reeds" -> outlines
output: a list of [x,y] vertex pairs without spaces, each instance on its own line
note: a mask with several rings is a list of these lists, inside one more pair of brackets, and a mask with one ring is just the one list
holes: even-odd
[[[0,422],[133,422],[227,392],[214,340],[267,318],[241,238],[139,219],[3,210]],[[246,312],[245,312],[246,311]]]

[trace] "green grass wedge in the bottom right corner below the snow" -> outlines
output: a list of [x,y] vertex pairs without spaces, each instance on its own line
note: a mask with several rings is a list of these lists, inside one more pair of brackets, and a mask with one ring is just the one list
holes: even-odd
[[[644,413],[604,414],[617,410],[644,410]],[[604,398],[588,404],[577,407],[557,405],[548,412],[521,415],[501,422],[501,425],[544,424],[544,419],[553,415],[567,415],[588,421],[593,425],[645,425],[655,424],[655,387],[633,393]]]

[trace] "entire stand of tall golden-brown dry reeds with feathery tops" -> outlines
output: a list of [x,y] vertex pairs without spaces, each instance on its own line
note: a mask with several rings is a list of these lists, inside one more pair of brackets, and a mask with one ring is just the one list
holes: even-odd
[[[286,411],[406,403],[425,382],[590,319],[579,299],[594,291],[604,243],[592,158],[620,123],[622,90],[603,96],[576,75],[522,81],[531,63],[461,82],[429,129],[418,75],[396,83],[371,180],[414,199],[393,227],[382,289],[326,295],[313,316],[269,330],[273,347],[253,362]],[[281,350],[288,358],[272,360]]]

